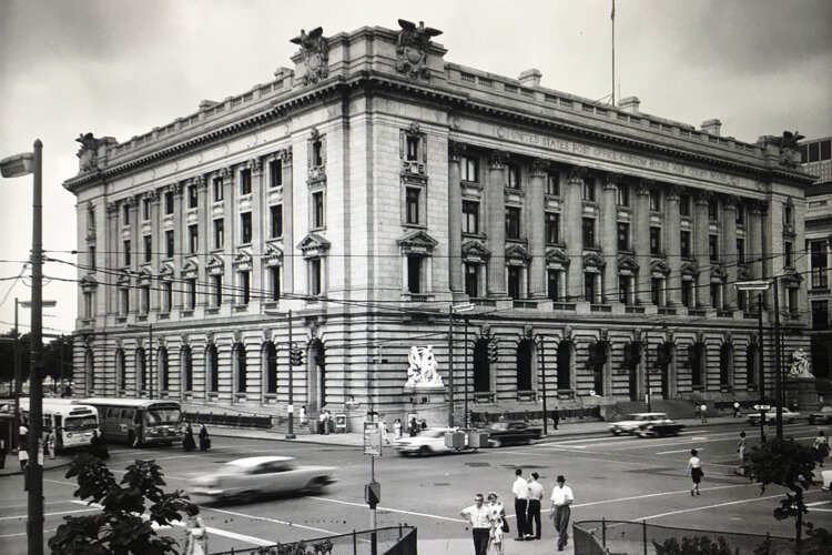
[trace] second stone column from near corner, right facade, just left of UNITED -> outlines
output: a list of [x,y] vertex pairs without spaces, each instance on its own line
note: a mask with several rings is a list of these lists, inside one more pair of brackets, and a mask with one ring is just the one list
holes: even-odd
[[488,165],[486,183],[488,295],[506,296],[506,160],[508,154],[494,151]]

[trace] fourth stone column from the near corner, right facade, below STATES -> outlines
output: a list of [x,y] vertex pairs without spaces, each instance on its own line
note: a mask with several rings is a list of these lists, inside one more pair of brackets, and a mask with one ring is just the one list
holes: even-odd
[[567,271],[567,299],[570,302],[584,300],[584,176],[586,168],[575,167],[566,181],[564,199],[564,238],[566,255],[569,256]]

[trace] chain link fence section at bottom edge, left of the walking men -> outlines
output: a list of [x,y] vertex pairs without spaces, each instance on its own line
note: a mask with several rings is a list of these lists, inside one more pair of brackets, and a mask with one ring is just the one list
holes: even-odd
[[393,526],[212,555],[416,555],[416,528]]

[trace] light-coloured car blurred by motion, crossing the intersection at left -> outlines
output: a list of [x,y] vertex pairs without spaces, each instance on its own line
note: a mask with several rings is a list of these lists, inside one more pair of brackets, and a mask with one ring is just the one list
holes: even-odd
[[295,493],[321,494],[335,482],[334,466],[300,465],[291,456],[252,456],[225,463],[190,482],[192,495],[223,501]]

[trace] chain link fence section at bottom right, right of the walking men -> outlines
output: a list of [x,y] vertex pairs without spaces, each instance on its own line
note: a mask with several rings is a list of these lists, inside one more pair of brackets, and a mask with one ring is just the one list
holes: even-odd
[[[581,521],[572,525],[572,532],[575,553],[582,555],[792,555],[795,552],[794,538],[672,528],[647,524],[646,521]],[[690,547],[683,549],[686,546]],[[698,546],[699,551],[693,546]]]

